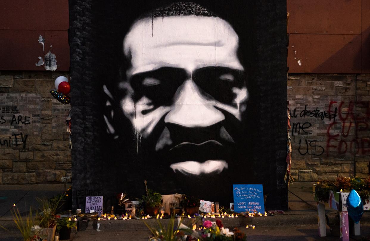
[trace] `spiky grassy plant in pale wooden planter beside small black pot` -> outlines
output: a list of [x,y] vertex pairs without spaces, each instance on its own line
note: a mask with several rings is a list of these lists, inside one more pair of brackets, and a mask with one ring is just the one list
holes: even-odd
[[60,218],[56,214],[56,210],[59,206],[60,200],[63,196],[58,199],[49,201],[46,197],[36,198],[40,204],[40,214],[38,215],[38,220],[40,221],[40,227],[43,228],[41,233],[47,236],[47,241],[53,241],[56,231],[57,219]]

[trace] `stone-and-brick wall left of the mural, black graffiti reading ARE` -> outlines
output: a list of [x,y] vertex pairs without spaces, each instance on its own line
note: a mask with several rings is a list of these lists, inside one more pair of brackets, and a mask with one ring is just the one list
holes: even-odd
[[0,72],[0,184],[52,183],[71,175],[70,105],[50,90],[68,72]]

